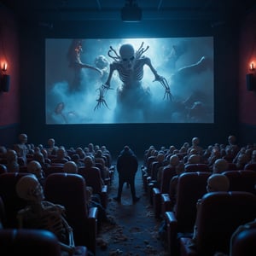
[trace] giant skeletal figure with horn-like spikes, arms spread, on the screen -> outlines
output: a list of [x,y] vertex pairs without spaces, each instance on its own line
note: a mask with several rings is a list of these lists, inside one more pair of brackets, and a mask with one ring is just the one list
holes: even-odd
[[122,82],[117,89],[117,108],[115,110],[118,118],[125,121],[135,116],[140,117],[142,121],[147,119],[147,115],[150,114],[150,90],[142,84],[145,65],[154,74],[154,81],[159,81],[166,90],[164,99],[172,100],[171,90],[166,79],[157,73],[151,60],[143,55],[147,50],[148,47],[143,48],[143,44],[137,50],[131,44],[122,44],[118,54],[115,49],[110,47],[108,56],[113,59],[113,62],[110,64],[106,83],[97,89],[99,96],[96,100],[95,110],[101,108],[102,105],[108,108],[105,96],[108,90],[113,89],[110,87],[110,82],[113,78],[113,72],[117,71]]

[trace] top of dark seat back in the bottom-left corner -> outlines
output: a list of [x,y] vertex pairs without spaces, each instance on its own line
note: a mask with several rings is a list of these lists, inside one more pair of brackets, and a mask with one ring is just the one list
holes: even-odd
[[48,230],[0,230],[0,254],[26,256],[61,256],[56,236]]

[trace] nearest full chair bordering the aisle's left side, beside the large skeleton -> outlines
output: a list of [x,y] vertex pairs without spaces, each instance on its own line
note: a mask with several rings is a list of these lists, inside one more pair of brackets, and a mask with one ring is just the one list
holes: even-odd
[[85,180],[79,174],[53,173],[45,179],[45,200],[66,208],[67,223],[73,228],[76,245],[96,253],[98,209],[88,209]]

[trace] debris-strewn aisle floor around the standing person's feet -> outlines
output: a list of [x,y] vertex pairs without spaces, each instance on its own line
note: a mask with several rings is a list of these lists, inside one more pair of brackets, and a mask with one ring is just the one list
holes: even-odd
[[137,196],[140,201],[132,203],[131,190],[126,185],[121,203],[113,201],[117,189],[118,173],[115,171],[107,209],[108,216],[115,224],[102,224],[97,238],[96,256],[168,255],[158,236],[160,220],[154,218],[153,207],[148,196],[144,194],[140,167],[136,176]]

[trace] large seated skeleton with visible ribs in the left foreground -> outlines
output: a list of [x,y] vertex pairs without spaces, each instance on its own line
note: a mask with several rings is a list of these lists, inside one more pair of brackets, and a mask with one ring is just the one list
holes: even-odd
[[44,201],[43,188],[34,175],[21,177],[16,191],[28,203],[17,214],[19,228],[49,230],[57,236],[63,255],[73,255],[73,229],[65,219],[65,207]]

